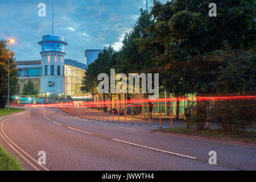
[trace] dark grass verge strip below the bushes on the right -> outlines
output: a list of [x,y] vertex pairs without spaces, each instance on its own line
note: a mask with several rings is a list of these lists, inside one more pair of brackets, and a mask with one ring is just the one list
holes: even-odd
[[183,133],[191,135],[202,135],[207,137],[218,137],[218,138],[228,138],[228,139],[238,139],[256,142],[256,131],[246,131],[244,133],[226,133],[222,130],[212,130],[212,129],[187,129],[187,127],[179,126],[173,129],[162,129],[160,131],[166,131],[170,133]]

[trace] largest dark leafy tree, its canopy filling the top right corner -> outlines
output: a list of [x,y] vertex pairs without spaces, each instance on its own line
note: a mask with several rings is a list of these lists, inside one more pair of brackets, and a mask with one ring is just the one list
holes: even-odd
[[254,1],[216,1],[217,17],[208,15],[211,2],[154,1],[150,36],[138,40],[140,52],[154,51],[162,84],[175,97],[212,93],[221,63],[211,58],[224,41],[234,49],[255,45]]

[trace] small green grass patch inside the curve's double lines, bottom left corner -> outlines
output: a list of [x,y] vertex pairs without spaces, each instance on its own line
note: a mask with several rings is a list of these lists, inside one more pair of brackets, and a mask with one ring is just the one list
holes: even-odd
[[14,156],[0,146],[0,171],[21,171],[22,167]]

